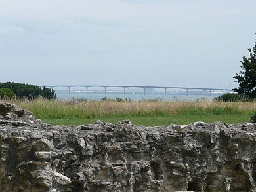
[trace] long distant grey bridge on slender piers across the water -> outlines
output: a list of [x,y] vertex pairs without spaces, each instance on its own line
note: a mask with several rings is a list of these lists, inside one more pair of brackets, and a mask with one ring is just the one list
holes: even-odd
[[196,88],[196,87],[181,87],[181,86],[129,86],[129,85],[45,85],[47,88],[56,88],[56,87],[66,87],[68,88],[68,94],[70,94],[70,88],[72,87],[83,87],[86,88],[86,94],[88,94],[88,89],[91,87],[100,87],[104,88],[105,95],[107,94],[107,88],[123,88],[123,94],[126,94],[127,88],[142,88],[144,90],[144,95],[146,94],[146,90],[149,88],[160,88],[164,90],[165,96],[167,94],[168,89],[179,89],[186,90],[186,95],[188,95],[189,90],[206,90],[209,92],[211,96],[211,92],[214,91],[224,91],[224,92],[233,92],[231,89],[223,89],[223,88]]

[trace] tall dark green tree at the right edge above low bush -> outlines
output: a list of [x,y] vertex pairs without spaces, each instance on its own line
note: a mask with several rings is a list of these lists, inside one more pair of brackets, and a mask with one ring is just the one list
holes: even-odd
[[256,42],[255,47],[249,51],[249,58],[243,56],[241,61],[242,71],[236,73],[233,77],[238,82],[238,88],[234,88],[234,91],[238,94],[246,94],[250,98],[256,98]]

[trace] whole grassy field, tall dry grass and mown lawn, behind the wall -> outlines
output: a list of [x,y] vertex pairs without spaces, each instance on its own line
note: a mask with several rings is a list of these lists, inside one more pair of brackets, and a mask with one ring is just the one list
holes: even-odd
[[117,123],[130,119],[134,125],[186,125],[195,121],[248,122],[256,113],[256,102],[117,102],[79,100],[1,100],[28,109],[43,123],[86,125],[100,119]]

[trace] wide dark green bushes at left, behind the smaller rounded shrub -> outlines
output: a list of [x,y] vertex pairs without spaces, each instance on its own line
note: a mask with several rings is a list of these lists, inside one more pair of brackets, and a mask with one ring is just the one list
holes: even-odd
[[0,88],[9,88],[18,98],[38,98],[42,96],[43,98],[53,99],[56,98],[54,90],[46,88],[45,86],[30,85],[25,83],[14,83],[14,82],[5,82],[0,83]]

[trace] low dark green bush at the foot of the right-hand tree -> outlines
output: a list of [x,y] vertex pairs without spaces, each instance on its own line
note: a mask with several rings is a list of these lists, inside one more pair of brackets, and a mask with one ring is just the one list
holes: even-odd
[[253,99],[245,94],[236,94],[236,93],[227,93],[223,94],[217,98],[214,98],[215,101],[220,102],[252,102]]

